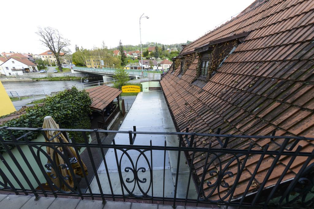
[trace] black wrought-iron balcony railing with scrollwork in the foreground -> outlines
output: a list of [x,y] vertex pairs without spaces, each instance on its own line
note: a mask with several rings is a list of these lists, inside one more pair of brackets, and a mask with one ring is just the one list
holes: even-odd
[[[138,199],[152,203],[160,201],[171,204],[173,207],[176,205],[225,205],[254,208],[309,208],[314,204],[314,138],[275,136],[275,133],[271,136],[223,135],[219,134],[219,130],[216,134],[139,132],[136,131],[136,127],[133,127],[133,131],[0,127],[0,131],[2,133],[0,145],[3,148],[0,154],[2,161],[0,190],[15,192],[17,195],[32,193],[36,199],[48,195],[78,196],[82,199],[97,197],[101,198],[104,203],[107,199],[113,201]],[[59,138],[59,142],[48,139],[45,131],[58,131],[53,138]],[[72,142],[65,143],[60,138],[61,134],[73,131],[82,133],[84,143],[75,143],[73,139]],[[29,137],[34,132],[42,133],[46,141],[30,141]],[[97,142],[89,144],[87,132],[95,133]],[[100,133],[118,133],[119,139],[113,139],[112,144],[104,144],[99,137]],[[123,139],[121,135],[124,135],[129,143],[119,144],[118,140]],[[147,140],[151,136],[160,135],[160,138],[155,137],[154,140],[162,140],[164,145],[153,145],[152,140],[149,141],[149,145],[137,144],[137,138],[141,135],[147,137]],[[167,146],[165,135],[178,136],[177,146]],[[203,146],[196,140],[201,137],[211,138],[212,141]],[[263,143],[256,143],[257,140]],[[235,142],[248,145],[239,149],[229,149],[229,145]],[[88,174],[85,172],[79,180],[75,175],[75,170],[68,166],[72,163],[68,157],[68,147],[75,150],[77,155],[75,160],[81,167],[83,167],[83,161],[86,163],[86,159],[81,159],[79,149],[87,150],[92,169],[90,173],[95,175],[93,182],[88,182]],[[46,153],[46,148],[53,150],[53,156],[62,157],[65,164],[59,164],[56,157],[51,159],[51,155]],[[112,150],[112,156],[114,156],[111,159],[106,157],[108,149]],[[27,156],[25,150],[29,151],[30,155]],[[105,184],[103,177],[100,178],[97,172],[100,165],[94,163],[95,150],[100,150],[102,158],[100,164],[105,166],[103,171],[107,182]],[[162,154],[156,155],[156,151]],[[132,158],[131,153],[134,154],[134,152],[138,155]],[[166,183],[169,182],[167,181],[169,176],[165,175],[169,164],[166,162],[166,153],[170,152],[175,153],[174,156],[176,156],[176,165],[171,165],[175,167],[175,172],[173,172],[175,177],[172,179],[170,176],[171,182],[173,180],[172,196],[165,194],[165,189],[169,190],[171,187],[169,183]],[[17,159],[17,153],[23,160]],[[179,175],[180,166],[182,166],[180,159],[184,159],[183,153],[187,157],[190,169],[187,172],[187,182],[182,183],[182,180],[179,181]],[[146,167],[139,165],[140,158],[144,159]],[[157,174],[155,172],[158,170],[154,170],[153,166],[159,159],[163,159],[163,168],[159,168],[163,172]],[[34,161],[40,172],[35,171],[38,168],[32,165]],[[255,164],[252,164],[252,161]],[[110,163],[116,165],[115,173],[109,173]],[[15,168],[18,172],[14,170]],[[48,175],[46,169],[55,170],[55,174]],[[60,172],[65,169],[68,170],[68,175]],[[18,177],[18,173],[22,178]],[[132,177],[126,174],[131,174]],[[43,184],[45,182],[40,179],[42,176],[46,184]],[[156,176],[161,177],[159,182],[156,182]],[[56,178],[59,181],[58,185],[63,185],[63,187],[58,187],[53,183],[53,179]],[[73,185],[68,184],[69,178],[73,180]],[[191,194],[193,191],[190,188],[191,179],[195,185],[195,194]],[[118,186],[112,184],[113,180]],[[86,191],[81,190],[80,181],[88,183]],[[156,185],[162,189],[157,190]],[[178,191],[178,185],[184,186],[183,196],[182,191]],[[181,192],[180,196],[177,195],[179,192]]]

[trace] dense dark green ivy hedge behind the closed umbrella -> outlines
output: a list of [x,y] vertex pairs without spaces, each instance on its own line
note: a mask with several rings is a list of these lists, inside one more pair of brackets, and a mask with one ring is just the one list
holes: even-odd
[[[42,127],[44,117],[51,116],[56,123],[61,124],[61,128],[83,128],[89,129],[91,124],[88,114],[91,112],[90,105],[92,101],[89,98],[88,92],[85,90],[78,91],[74,86],[71,89],[60,91],[58,94],[47,97],[43,106],[35,105],[34,107],[27,107],[26,112],[19,118],[14,118],[4,122],[1,126],[8,127]],[[15,138],[27,133],[23,130],[14,130]],[[41,134],[34,132],[29,135],[29,139],[35,139]],[[4,140],[9,140],[10,135],[8,130],[0,130],[0,135]],[[82,133],[69,132],[69,136],[73,137],[75,142],[84,143]],[[13,149],[11,146],[10,149]],[[0,152],[5,152],[2,145],[0,145]]]

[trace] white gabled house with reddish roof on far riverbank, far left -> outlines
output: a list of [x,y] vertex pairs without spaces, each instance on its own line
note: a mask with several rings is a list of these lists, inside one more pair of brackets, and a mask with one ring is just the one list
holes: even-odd
[[2,67],[1,74],[6,76],[18,75],[23,73],[38,72],[37,65],[27,59],[11,57],[0,65]]

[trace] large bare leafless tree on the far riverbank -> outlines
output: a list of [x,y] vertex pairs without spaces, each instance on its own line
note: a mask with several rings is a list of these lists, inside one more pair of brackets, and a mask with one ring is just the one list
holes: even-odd
[[70,41],[63,38],[57,29],[51,27],[43,29],[39,27],[36,34],[40,36],[42,44],[49,48],[52,54],[56,57],[57,65],[60,72],[62,72],[60,57],[69,53],[68,46],[70,45]]

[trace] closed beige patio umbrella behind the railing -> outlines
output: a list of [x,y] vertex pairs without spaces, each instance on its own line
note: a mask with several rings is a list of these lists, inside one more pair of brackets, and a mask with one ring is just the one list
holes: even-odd
[[[59,128],[59,125],[53,120],[53,118],[51,118],[51,116],[46,116],[44,118],[44,124],[43,124],[42,128]],[[47,138],[50,139],[50,138],[54,137],[55,135],[57,135],[59,133],[59,131],[45,131],[45,133],[46,133]],[[62,140],[63,143],[68,143],[68,140],[63,136],[62,133],[58,137],[55,137],[51,141],[48,141],[48,142],[60,143],[60,140]],[[78,159],[77,159],[77,155],[76,155],[73,147],[64,146],[65,150],[63,150],[62,147],[58,147],[56,149],[58,149],[63,154],[64,157],[68,157],[69,162],[71,164],[70,166],[72,166],[74,174],[77,174],[81,177],[84,177],[83,172],[85,172],[86,175],[88,175],[87,168],[86,168],[85,164],[83,163],[83,161],[82,161],[83,168],[81,168],[81,166],[78,162]],[[50,158],[52,160],[54,160],[54,155],[55,155],[55,159],[56,159],[55,163],[56,163],[57,168],[58,168],[57,172],[61,173],[62,176],[68,175],[69,176],[68,180],[65,180],[65,181],[70,187],[73,188],[73,186],[74,186],[73,176],[71,175],[71,172],[68,168],[69,165],[67,165],[65,159],[63,159],[51,147],[47,147],[47,154],[50,156]],[[51,163],[51,162],[49,162],[49,160],[48,160],[48,163]],[[62,169],[62,167],[60,165],[65,165],[65,168]],[[56,174],[56,171],[53,168],[51,168],[51,167],[47,168],[46,172],[47,172],[48,176],[50,177],[50,179],[52,180],[52,182],[58,188],[61,188],[63,191],[70,191],[70,189],[66,185],[64,185],[62,183],[62,181],[59,179],[58,175]],[[53,174],[54,178],[51,177],[51,174]],[[57,178],[55,178],[55,177],[57,177]]]

